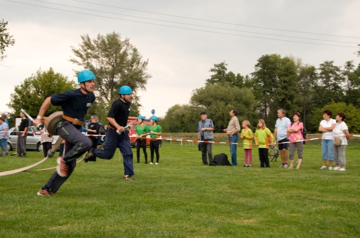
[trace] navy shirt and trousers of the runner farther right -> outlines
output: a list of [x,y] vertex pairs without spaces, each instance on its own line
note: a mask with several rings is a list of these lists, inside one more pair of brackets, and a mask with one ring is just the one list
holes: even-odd
[[[124,103],[118,99],[111,106],[107,117],[114,118],[117,124],[124,127],[128,123],[129,114],[130,103]],[[122,133],[118,134],[116,129],[107,129],[104,148],[93,150],[93,154],[96,157],[110,160],[114,156],[116,148],[119,148],[120,153],[123,156],[124,175],[133,175],[133,151],[131,150],[130,145],[129,130],[124,130]]]

